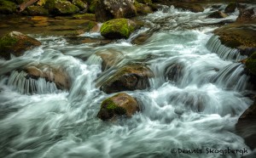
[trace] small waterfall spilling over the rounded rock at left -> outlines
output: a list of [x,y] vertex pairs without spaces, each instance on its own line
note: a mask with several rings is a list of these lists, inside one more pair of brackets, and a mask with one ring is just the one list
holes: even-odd
[[55,93],[58,91],[54,82],[49,82],[45,78],[34,79],[28,77],[24,71],[12,71],[9,76],[8,86],[14,87],[20,93]]

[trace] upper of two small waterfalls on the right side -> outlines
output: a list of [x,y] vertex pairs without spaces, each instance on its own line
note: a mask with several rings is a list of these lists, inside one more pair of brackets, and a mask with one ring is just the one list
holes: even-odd
[[228,59],[238,61],[246,57],[239,53],[236,48],[228,48],[224,46],[218,39],[218,36],[213,35],[207,42],[207,49],[213,53],[218,54],[221,59]]

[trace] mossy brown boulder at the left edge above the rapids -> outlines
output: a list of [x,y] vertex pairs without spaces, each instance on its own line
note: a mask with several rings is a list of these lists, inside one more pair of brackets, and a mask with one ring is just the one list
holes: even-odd
[[22,55],[26,50],[40,46],[41,42],[20,32],[12,31],[0,39],[0,56],[10,59],[10,54]]

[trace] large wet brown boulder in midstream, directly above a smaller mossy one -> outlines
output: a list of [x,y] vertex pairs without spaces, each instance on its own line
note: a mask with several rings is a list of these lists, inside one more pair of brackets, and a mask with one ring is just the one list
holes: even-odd
[[145,89],[149,87],[148,78],[153,76],[154,73],[147,66],[126,65],[110,76],[101,89],[105,93]]

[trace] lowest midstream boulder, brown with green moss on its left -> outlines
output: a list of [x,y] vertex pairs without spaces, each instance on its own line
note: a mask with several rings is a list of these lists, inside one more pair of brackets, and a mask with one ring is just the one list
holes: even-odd
[[103,121],[107,121],[116,116],[131,117],[138,110],[139,105],[136,99],[126,93],[118,93],[102,102],[101,110],[97,116]]

